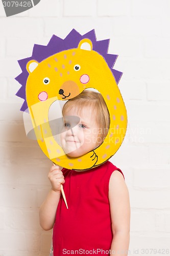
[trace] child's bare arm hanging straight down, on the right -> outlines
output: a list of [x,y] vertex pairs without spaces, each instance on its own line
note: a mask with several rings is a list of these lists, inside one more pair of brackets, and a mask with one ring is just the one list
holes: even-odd
[[109,203],[113,232],[110,255],[127,256],[130,240],[129,192],[124,177],[118,170],[110,177]]

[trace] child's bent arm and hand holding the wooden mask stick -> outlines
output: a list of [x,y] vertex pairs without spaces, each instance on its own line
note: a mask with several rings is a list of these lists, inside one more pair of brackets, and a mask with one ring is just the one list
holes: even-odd
[[51,167],[48,178],[52,188],[39,210],[40,226],[44,230],[50,230],[54,226],[56,210],[61,196],[61,184],[65,182],[58,165]]

